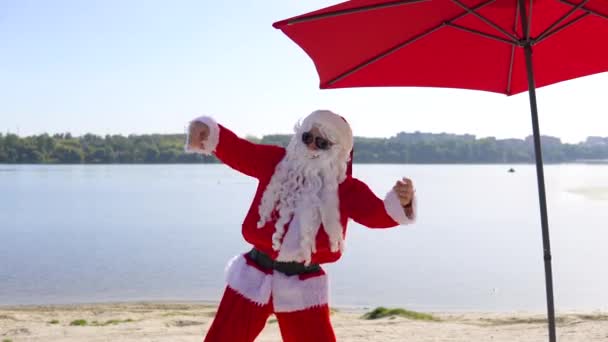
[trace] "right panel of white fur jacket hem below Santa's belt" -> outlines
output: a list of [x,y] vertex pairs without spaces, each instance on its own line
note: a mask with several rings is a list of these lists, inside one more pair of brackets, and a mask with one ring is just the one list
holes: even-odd
[[328,303],[327,275],[300,280],[275,271],[272,280],[272,304],[276,312],[302,311]]

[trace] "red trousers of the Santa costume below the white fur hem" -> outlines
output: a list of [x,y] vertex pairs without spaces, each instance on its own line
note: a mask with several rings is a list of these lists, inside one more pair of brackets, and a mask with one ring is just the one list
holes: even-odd
[[226,287],[205,342],[251,342],[274,313],[284,342],[335,342],[327,305],[294,312],[274,312],[272,301],[259,305]]

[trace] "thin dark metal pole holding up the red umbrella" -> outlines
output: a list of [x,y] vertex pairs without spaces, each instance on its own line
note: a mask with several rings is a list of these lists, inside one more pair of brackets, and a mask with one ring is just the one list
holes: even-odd
[[551,245],[549,242],[549,220],[547,218],[547,198],[545,195],[545,174],[543,171],[543,156],[538,124],[538,108],[536,106],[536,84],[532,68],[532,45],[524,45],[526,69],[528,72],[528,94],[530,95],[530,111],[532,113],[532,131],[534,132],[534,156],[536,159],[536,178],[538,184],[538,199],[540,201],[540,220],[543,234],[543,256],[545,260],[545,286],[547,292],[547,317],[549,321],[549,341],[555,342],[555,308],[553,306],[553,275],[551,270]]

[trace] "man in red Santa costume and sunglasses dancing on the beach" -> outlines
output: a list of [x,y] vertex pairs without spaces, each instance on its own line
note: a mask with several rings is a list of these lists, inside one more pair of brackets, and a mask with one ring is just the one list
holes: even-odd
[[339,115],[318,110],[295,127],[287,148],[237,137],[210,117],[190,122],[186,150],[215,156],[258,179],[243,222],[253,249],[227,267],[227,287],[205,341],[253,341],[275,314],[283,341],[335,341],[327,275],[349,218],[370,228],[412,223],[412,182],[397,180],[384,200],[351,176],[353,134]]

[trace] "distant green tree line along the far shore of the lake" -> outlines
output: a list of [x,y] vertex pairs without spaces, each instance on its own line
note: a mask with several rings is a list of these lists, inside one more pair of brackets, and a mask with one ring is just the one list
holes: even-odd
[[[290,135],[247,137],[286,146]],[[0,163],[216,163],[213,156],[184,152],[184,134],[106,135],[41,134],[19,137],[0,134]],[[547,163],[608,159],[608,138],[590,137],[579,144],[563,144],[544,136]],[[355,137],[356,163],[531,163],[532,138],[478,139],[474,135],[399,133],[391,138]]]

